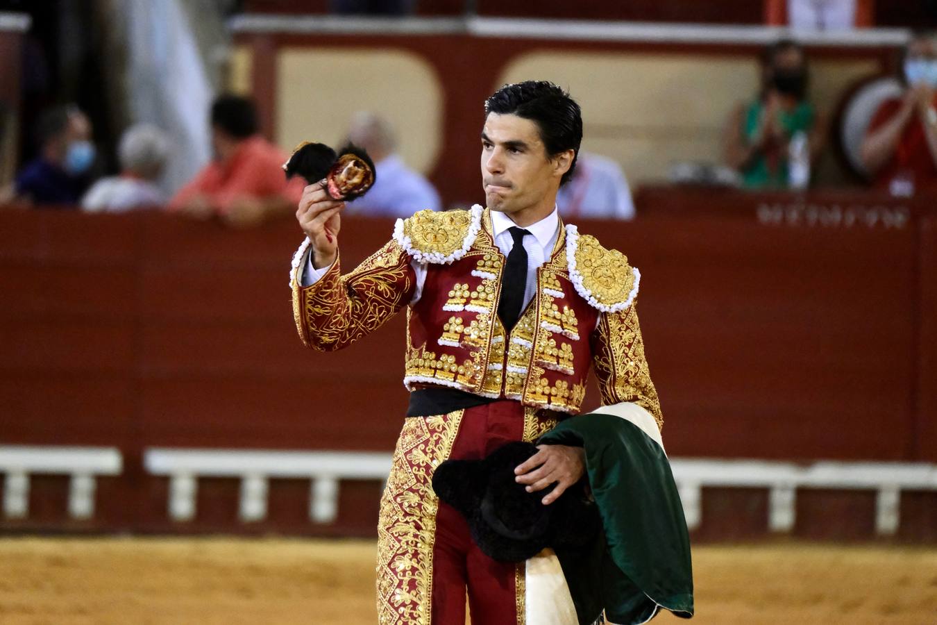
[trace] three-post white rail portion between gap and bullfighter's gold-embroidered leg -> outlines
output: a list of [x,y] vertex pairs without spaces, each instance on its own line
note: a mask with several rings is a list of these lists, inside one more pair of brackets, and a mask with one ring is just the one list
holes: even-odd
[[154,475],[169,476],[169,514],[175,521],[195,516],[199,478],[234,477],[241,479],[242,521],[266,517],[271,478],[291,478],[311,483],[309,518],[314,523],[331,523],[338,513],[338,481],[385,481],[391,472],[391,454],[148,449],[143,465]]

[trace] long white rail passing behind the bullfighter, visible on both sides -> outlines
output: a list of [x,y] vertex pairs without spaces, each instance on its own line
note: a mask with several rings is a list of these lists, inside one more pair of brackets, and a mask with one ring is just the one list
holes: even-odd
[[[335,521],[341,480],[385,481],[391,454],[367,452],[261,452],[238,450],[150,449],[146,469],[170,477],[169,514],[185,521],[195,515],[200,477],[241,479],[240,517],[257,521],[267,513],[271,478],[311,482],[309,518]],[[937,465],[894,462],[816,462],[798,465],[756,460],[676,458],[671,460],[687,525],[699,528],[705,487],[755,487],[769,492],[768,528],[791,531],[800,488],[877,491],[875,529],[894,534],[900,523],[902,490],[937,490]]]

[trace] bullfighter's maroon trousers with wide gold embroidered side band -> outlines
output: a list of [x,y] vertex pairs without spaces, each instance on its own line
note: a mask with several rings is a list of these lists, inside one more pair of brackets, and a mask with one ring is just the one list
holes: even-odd
[[512,440],[534,440],[557,423],[513,400],[409,417],[394,453],[378,524],[382,625],[523,625],[524,563],[498,562],[472,542],[461,514],[437,499],[432,471],[449,459],[480,459]]

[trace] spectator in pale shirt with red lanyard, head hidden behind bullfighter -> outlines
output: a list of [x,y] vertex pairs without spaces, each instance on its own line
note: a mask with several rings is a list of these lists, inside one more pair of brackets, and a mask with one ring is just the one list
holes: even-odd
[[634,218],[632,192],[621,167],[590,152],[579,153],[573,179],[559,187],[557,207],[564,217]]

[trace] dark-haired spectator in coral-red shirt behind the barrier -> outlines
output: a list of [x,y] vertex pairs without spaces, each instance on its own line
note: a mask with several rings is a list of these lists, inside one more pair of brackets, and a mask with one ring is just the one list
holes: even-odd
[[170,210],[199,219],[220,216],[234,226],[291,215],[305,182],[285,179],[282,166],[288,155],[260,137],[253,103],[218,97],[211,125],[214,160],[176,193]]

